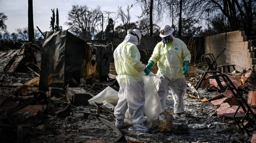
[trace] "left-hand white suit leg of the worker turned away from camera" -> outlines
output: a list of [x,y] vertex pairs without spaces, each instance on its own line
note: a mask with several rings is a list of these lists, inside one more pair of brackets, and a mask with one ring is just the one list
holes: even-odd
[[114,115],[116,116],[116,126],[120,129],[126,126],[124,123],[125,119],[125,112],[128,109],[128,103],[126,98],[126,92],[124,92],[124,89],[120,86],[119,92],[118,92],[118,103],[114,110]]

